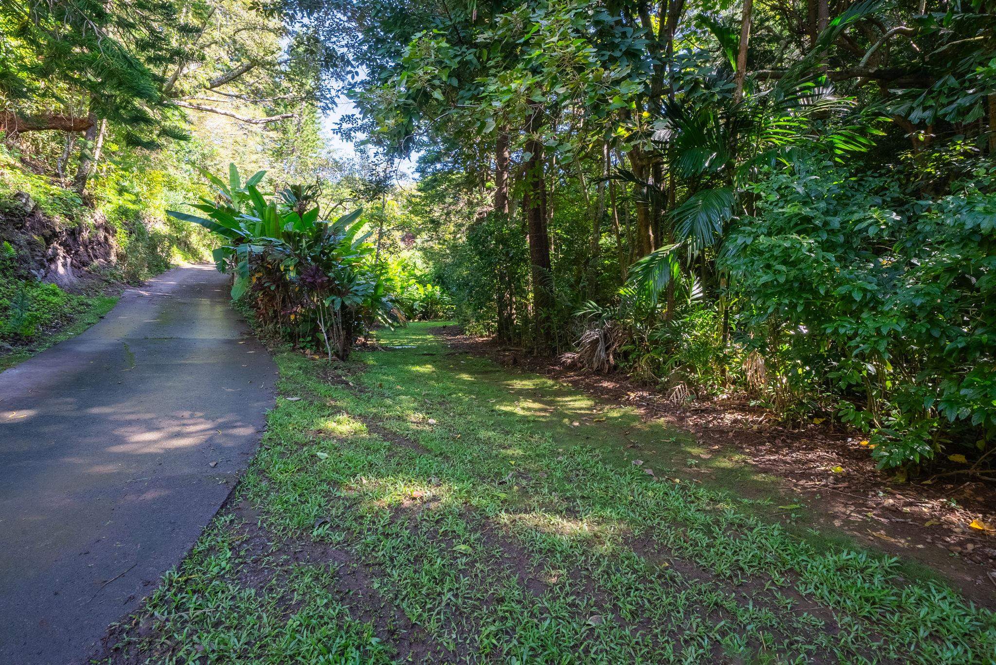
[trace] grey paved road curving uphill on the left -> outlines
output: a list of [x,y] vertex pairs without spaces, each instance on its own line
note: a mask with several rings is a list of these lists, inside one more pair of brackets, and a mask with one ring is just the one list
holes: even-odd
[[211,266],[0,373],[0,663],[95,651],[225,500],[275,378]]

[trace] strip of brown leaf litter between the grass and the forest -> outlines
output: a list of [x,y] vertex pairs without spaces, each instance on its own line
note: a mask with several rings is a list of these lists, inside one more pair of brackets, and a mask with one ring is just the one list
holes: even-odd
[[[485,355],[504,366],[555,378],[600,400],[635,409],[746,457],[758,472],[784,479],[786,489],[813,499],[819,522],[832,524],[871,547],[941,571],[970,599],[996,608],[996,533],[969,527],[996,525],[996,483],[969,476],[924,476],[896,482],[875,468],[862,439],[828,419],[787,425],[746,401],[696,400],[675,405],[622,372],[595,374],[530,356],[457,326],[436,328],[454,350]],[[832,469],[841,467],[841,473]]]

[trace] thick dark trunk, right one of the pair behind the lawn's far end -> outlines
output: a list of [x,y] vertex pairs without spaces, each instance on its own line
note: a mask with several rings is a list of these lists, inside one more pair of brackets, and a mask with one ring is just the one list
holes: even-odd
[[529,230],[529,258],[533,278],[533,342],[536,350],[551,350],[550,314],[553,309],[553,275],[550,272],[550,236],[547,234],[547,183],[544,172],[543,109],[532,105],[526,131],[526,191],[523,207]]

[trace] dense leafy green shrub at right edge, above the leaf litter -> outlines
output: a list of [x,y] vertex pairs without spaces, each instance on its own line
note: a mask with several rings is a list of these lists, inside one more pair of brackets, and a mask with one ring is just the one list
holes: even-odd
[[996,178],[930,200],[829,163],[754,189],[726,266],[781,408],[836,410],[883,468],[996,434]]

